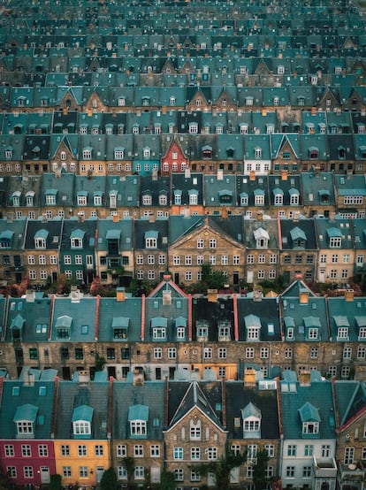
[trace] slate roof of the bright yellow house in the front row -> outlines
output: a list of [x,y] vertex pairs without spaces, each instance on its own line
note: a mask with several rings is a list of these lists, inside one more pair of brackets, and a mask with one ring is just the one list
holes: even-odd
[[72,412],[80,405],[93,409],[92,437],[107,439],[109,382],[58,381],[56,439],[72,439]]

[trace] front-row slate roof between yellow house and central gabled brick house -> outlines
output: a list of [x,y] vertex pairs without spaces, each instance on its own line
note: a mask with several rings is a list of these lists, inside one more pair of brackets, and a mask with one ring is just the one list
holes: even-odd
[[128,410],[133,405],[149,407],[147,439],[161,440],[164,428],[164,381],[146,381],[143,385],[130,382],[113,382],[113,421],[114,440],[132,439],[129,434]]

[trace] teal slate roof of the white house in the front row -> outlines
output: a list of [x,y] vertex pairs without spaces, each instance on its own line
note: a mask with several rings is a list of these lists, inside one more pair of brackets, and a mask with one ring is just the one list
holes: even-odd
[[282,420],[285,439],[302,439],[301,407],[309,402],[319,412],[319,439],[334,439],[332,382],[320,380],[309,386],[294,383],[295,391],[284,392],[281,381]]

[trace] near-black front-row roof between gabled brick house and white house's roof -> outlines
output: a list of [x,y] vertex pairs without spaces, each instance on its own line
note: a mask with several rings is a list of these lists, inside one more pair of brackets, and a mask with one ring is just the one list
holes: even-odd
[[[277,390],[248,388],[242,381],[228,381],[226,390],[226,427],[230,439],[242,439],[243,421],[241,411],[248,403],[253,403],[261,411],[262,439],[279,439]],[[234,418],[240,418],[240,427],[235,426]]]

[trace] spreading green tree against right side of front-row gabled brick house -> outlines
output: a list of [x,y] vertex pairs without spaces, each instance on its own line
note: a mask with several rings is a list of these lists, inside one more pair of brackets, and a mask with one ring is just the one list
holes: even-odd
[[209,473],[214,473],[216,478],[216,487],[220,490],[228,490],[230,488],[230,473],[234,468],[238,468],[241,464],[247,461],[247,452],[235,454],[226,447],[225,455],[221,456],[218,461],[210,461],[210,463],[201,463],[194,465],[192,468],[203,477],[207,477]]

